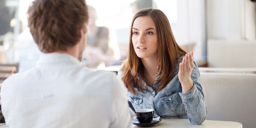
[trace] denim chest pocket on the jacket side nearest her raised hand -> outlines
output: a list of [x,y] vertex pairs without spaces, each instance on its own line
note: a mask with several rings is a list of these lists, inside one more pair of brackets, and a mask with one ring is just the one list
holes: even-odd
[[159,96],[160,101],[164,109],[169,111],[174,111],[179,105],[177,91],[172,91],[170,93]]

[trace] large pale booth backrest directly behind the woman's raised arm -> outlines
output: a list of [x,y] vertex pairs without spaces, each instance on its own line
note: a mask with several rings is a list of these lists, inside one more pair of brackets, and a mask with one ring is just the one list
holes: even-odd
[[200,72],[206,120],[241,122],[256,127],[256,74]]

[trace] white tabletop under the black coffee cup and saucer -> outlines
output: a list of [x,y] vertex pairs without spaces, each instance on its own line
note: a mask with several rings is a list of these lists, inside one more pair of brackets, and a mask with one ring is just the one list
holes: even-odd
[[[233,121],[205,120],[201,125],[194,125],[188,119],[165,119],[158,124],[147,128],[242,128],[242,123]],[[132,128],[142,128],[132,125]]]

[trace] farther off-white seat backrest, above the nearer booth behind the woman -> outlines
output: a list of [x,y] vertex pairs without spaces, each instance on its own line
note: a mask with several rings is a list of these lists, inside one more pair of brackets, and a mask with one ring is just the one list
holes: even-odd
[[256,68],[256,40],[207,40],[207,63],[209,67]]

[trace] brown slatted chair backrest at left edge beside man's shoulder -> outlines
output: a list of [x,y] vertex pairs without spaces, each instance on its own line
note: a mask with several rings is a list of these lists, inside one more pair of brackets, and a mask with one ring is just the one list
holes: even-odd
[[19,72],[19,65],[19,63],[0,64],[0,83],[10,76],[12,70],[14,70],[14,73]]

